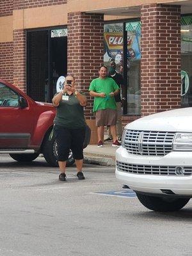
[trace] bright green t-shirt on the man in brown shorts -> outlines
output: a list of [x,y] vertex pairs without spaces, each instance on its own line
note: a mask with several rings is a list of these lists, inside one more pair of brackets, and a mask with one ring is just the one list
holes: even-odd
[[116,109],[115,97],[110,97],[109,93],[115,92],[119,87],[112,78],[106,77],[104,79],[96,78],[93,79],[90,84],[89,91],[106,93],[106,97],[94,97],[93,112],[99,109]]

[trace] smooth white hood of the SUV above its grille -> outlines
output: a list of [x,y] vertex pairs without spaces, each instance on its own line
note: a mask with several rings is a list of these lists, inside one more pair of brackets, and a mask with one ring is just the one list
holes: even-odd
[[192,108],[180,108],[145,116],[125,126],[140,131],[192,132]]

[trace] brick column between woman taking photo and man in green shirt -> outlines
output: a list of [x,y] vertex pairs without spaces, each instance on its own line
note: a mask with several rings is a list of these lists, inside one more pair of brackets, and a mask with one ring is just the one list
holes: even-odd
[[103,15],[68,13],[68,72],[74,74],[77,89],[86,93],[87,119],[93,119],[93,98],[88,93],[90,82],[98,77],[103,63]]

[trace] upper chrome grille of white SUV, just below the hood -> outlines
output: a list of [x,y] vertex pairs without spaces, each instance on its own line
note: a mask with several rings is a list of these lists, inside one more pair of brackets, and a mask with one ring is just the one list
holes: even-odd
[[127,130],[124,147],[130,154],[165,156],[172,151],[175,132]]

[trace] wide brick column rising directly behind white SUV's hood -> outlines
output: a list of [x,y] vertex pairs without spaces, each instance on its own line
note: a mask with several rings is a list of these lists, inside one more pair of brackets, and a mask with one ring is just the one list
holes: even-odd
[[141,6],[141,115],[180,107],[180,6]]

